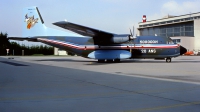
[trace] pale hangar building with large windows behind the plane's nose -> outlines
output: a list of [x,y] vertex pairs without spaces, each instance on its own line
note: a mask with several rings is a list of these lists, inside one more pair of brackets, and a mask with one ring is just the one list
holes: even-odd
[[143,22],[139,23],[138,32],[140,36],[170,37],[188,51],[200,52],[200,12],[180,16],[167,15],[151,21],[144,21],[143,18]]

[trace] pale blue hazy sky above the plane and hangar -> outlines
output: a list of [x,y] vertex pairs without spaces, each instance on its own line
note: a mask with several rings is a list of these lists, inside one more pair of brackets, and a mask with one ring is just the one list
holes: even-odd
[[0,0],[0,32],[22,36],[24,7],[37,6],[47,27],[66,31],[52,23],[67,20],[115,34],[127,34],[147,21],[166,15],[200,12],[200,0]]

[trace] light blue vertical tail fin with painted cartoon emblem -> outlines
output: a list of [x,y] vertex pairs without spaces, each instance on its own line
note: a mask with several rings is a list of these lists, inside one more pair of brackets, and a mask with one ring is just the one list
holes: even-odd
[[27,7],[23,10],[23,37],[35,36],[77,36],[61,30],[48,28],[37,7]]

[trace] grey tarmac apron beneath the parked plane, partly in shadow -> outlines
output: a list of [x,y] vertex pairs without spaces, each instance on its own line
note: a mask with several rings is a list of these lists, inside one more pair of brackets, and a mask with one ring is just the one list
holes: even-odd
[[200,56],[0,57],[1,112],[199,112]]

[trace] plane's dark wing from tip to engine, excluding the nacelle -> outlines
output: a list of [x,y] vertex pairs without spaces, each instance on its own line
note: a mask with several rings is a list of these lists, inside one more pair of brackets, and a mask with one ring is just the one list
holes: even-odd
[[59,26],[61,28],[70,30],[72,32],[78,33],[80,35],[83,36],[89,36],[89,37],[104,37],[104,38],[111,38],[113,37],[113,33],[109,33],[109,32],[105,32],[105,31],[101,31],[101,30],[97,30],[94,28],[90,28],[90,27],[86,27],[86,26],[82,26],[82,25],[78,25],[78,24],[74,24],[74,23],[70,23],[67,21],[60,21],[60,22],[56,22],[53,23],[56,26]]

